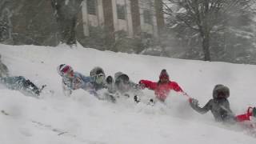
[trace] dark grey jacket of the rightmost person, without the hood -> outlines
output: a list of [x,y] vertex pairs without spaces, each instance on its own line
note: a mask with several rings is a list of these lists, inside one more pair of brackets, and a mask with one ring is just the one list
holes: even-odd
[[194,102],[190,102],[190,106],[200,114],[205,114],[210,110],[218,122],[234,121],[234,114],[230,110],[230,102],[227,98],[210,99],[202,108]]

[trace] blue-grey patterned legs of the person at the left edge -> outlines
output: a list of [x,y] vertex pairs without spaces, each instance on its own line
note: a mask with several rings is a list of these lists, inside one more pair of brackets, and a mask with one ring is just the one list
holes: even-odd
[[42,88],[39,88],[29,79],[22,76],[0,78],[0,82],[10,90],[19,90],[22,94],[29,96],[39,96],[42,89],[46,86],[43,85]]

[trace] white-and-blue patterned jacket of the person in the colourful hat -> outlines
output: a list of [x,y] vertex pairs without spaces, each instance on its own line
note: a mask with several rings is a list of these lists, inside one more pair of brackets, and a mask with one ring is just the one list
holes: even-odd
[[74,78],[67,78],[62,76],[62,88],[65,95],[70,96],[72,90],[83,89],[90,92],[90,94],[96,94],[94,90],[94,78],[86,77],[78,72],[74,72]]

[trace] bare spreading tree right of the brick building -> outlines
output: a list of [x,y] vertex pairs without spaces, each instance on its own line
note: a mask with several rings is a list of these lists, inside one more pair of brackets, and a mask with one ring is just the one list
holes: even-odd
[[[176,23],[198,32],[202,38],[204,60],[210,61],[210,37],[214,29],[222,29],[231,13],[248,9],[253,0],[165,0],[165,14]],[[178,9],[175,11],[173,9]]]

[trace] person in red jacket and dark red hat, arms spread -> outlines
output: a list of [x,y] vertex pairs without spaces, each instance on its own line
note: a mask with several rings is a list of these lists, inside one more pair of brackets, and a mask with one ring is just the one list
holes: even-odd
[[143,88],[148,88],[150,90],[154,90],[154,94],[158,100],[165,102],[170,90],[175,90],[177,92],[182,92],[183,90],[180,86],[178,86],[177,82],[170,81],[169,75],[166,70],[162,70],[159,75],[158,82],[151,82],[148,80],[140,80],[139,85]]

